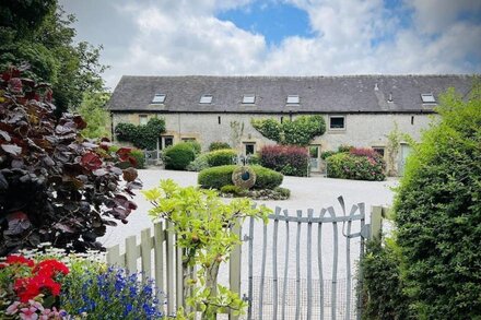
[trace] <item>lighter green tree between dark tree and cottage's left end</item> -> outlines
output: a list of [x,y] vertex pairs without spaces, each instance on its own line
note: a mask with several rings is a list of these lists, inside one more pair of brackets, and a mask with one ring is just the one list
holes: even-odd
[[109,135],[108,112],[104,108],[109,98],[109,93],[87,92],[83,94],[83,102],[77,110],[86,122],[86,128],[81,132],[83,137],[98,139]]

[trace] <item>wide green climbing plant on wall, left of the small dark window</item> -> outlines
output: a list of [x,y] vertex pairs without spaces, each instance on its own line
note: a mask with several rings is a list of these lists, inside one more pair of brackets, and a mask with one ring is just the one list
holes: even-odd
[[280,144],[308,145],[314,138],[326,132],[326,121],[321,116],[301,116],[282,123],[272,118],[253,118],[250,122],[260,134]]

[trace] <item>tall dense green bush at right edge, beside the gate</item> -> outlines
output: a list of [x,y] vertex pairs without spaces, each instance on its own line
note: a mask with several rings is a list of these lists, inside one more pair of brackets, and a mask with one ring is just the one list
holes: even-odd
[[436,111],[395,199],[404,291],[418,319],[479,319],[481,84],[467,102],[448,91]]

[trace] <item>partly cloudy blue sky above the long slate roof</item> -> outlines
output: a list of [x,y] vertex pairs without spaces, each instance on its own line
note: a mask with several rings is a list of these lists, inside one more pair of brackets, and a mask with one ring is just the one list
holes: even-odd
[[60,0],[121,75],[481,73],[481,0]]

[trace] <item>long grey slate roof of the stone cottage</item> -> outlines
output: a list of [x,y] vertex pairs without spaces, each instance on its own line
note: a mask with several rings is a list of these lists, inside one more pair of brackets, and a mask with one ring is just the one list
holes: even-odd
[[[470,75],[124,75],[107,108],[143,112],[431,112],[433,106],[423,105],[421,94],[432,93],[438,100],[448,87],[468,93],[471,82]],[[155,94],[166,94],[163,105],[151,104]],[[213,96],[211,104],[199,104],[204,94]],[[255,105],[242,104],[244,94],[255,94]],[[300,105],[286,105],[288,95],[298,95]]]

